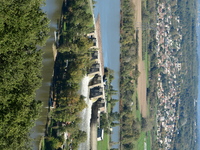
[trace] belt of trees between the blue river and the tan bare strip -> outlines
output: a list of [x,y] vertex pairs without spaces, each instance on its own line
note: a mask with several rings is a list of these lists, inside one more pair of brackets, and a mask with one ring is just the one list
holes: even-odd
[[141,129],[140,120],[136,118],[133,111],[133,105],[137,107],[137,97],[134,95],[136,95],[139,75],[137,69],[138,43],[133,8],[130,0],[121,1],[120,149],[127,150],[134,148],[134,141],[139,138]]

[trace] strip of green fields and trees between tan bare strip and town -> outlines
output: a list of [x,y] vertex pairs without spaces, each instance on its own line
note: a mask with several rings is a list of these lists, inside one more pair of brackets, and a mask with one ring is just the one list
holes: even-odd
[[149,101],[149,116],[142,121],[142,126],[151,135],[152,149],[158,149],[156,138],[156,111],[157,111],[157,80],[160,68],[157,67],[156,55],[156,1],[147,0],[142,3],[142,22],[146,27],[142,31],[143,59],[147,63],[147,100]]

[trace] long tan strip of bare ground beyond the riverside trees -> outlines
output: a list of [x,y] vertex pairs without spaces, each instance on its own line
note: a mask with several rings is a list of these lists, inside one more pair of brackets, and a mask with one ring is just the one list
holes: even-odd
[[146,101],[146,71],[145,63],[142,61],[142,0],[133,0],[135,6],[135,27],[138,30],[138,101],[142,117],[147,116],[147,101]]

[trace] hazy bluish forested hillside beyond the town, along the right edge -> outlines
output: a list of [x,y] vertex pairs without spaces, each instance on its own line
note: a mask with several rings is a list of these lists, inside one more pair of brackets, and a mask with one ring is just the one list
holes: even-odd
[[[183,72],[181,79],[181,103],[180,119],[178,122],[179,134],[175,136],[174,149],[197,149],[197,111],[194,100],[198,92],[198,60],[197,60],[197,37],[196,17],[197,2],[195,0],[178,0],[177,8],[173,13],[180,16],[182,30],[182,61]],[[187,70],[187,71],[185,71]]]

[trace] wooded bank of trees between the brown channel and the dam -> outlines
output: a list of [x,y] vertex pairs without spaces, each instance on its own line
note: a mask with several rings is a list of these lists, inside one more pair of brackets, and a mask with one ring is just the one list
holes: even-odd
[[[87,107],[84,97],[78,93],[80,82],[91,62],[93,32],[92,15],[87,0],[68,0],[63,4],[58,55],[55,62],[52,89],[55,108],[47,128],[44,149],[77,149],[86,140],[86,133],[79,130],[79,113]],[[67,139],[64,134],[68,133]]]

